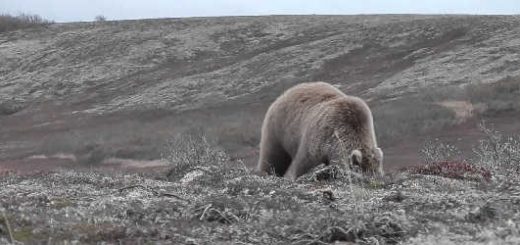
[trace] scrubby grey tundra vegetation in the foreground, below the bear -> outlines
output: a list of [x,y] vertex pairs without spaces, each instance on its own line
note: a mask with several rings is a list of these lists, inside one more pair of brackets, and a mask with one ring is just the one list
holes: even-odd
[[0,241],[518,244],[520,143],[486,134],[471,162],[432,144],[423,151],[428,165],[379,180],[344,166],[297,182],[259,177],[197,135],[174,142],[167,173],[7,174]]

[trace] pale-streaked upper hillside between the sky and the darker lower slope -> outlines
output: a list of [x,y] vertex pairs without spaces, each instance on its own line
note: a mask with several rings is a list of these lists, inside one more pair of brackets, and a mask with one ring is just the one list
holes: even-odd
[[275,16],[55,24],[1,34],[0,92],[27,103],[81,102],[88,112],[201,108],[308,80],[391,97],[518,75],[518,22]]

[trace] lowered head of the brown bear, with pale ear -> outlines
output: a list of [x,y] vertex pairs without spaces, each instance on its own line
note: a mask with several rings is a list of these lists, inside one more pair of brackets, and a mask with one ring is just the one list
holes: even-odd
[[359,166],[363,172],[375,176],[383,176],[383,151],[379,147],[356,149],[350,154],[353,165]]

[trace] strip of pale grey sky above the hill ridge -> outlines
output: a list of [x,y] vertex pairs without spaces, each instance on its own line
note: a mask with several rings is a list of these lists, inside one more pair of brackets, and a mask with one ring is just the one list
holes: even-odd
[[520,0],[0,0],[56,22],[273,14],[520,14]]

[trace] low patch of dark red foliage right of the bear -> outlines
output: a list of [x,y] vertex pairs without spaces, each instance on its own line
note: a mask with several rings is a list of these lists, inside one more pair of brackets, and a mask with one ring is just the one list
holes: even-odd
[[442,161],[413,167],[412,173],[438,175],[453,179],[491,180],[491,171],[467,162]]

